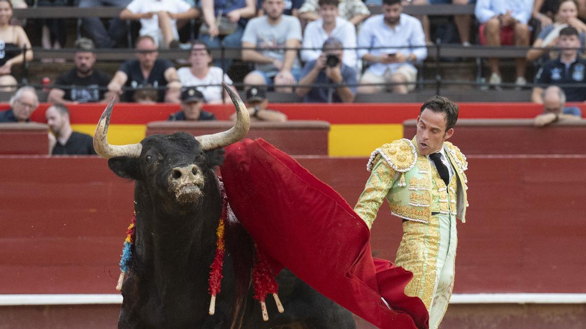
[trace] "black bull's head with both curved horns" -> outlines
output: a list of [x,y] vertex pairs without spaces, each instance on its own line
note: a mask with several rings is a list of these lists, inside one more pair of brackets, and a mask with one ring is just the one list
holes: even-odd
[[206,172],[223,161],[221,148],[242,139],[250,127],[248,111],[240,97],[227,84],[236,107],[236,124],[228,131],[196,136],[179,132],[152,135],[140,143],[110,145],[108,126],[114,100],[105,108],[96,127],[94,148],[108,159],[108,166],[118,176],[143,181],[147,189],[183,205],[199,203],[206,184]]

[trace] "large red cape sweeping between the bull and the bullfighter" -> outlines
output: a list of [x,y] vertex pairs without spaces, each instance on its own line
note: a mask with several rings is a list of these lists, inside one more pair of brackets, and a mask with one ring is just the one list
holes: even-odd
[[428,327],[423,301],[404,294],[413,275],[372,258],[369,229],[332,187],[263,139],[227,147],[221,170],[234,214],[274,269],[379,328]]

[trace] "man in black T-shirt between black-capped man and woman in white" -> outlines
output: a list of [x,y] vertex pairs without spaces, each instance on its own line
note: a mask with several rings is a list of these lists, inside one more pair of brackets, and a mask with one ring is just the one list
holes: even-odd
[[[130,102],[134,90],[151,84],[158,90],[158,102],[179,103],[181,83],[173,63],[166,59],[157,59],[155,40],[144,35],[137,39],[137,59],[127,60],[108,84],[108,91],[114,95],[122,94],[122,86],[130,87],[122,97],[122,101]],[[165,91],[166,87],[166,91]]]

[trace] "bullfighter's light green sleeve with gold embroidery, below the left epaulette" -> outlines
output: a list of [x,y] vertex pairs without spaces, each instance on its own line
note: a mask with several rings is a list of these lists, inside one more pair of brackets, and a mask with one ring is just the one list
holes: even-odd
[[374,166],[366,181],[364,191],[360,194],[354,211],[362,218],[369,229],[376,218],[380,205],[389,193],[395,178],[395,170],[392,169],[382,156],[374,159]]

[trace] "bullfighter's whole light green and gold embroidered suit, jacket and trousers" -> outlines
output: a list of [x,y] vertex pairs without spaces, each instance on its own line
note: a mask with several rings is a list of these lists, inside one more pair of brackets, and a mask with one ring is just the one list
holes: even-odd
[[430,328],[437,328],[454,284],[455,219],[465,222],[468,163],[456,146],[444,142],[454,173],[446,186],[414,140],[395,140],[374,150],[367,165],[372,173],[354,210],[371,227],[386,199],[391,213],[405,220],[395,264],[413,272],[405,293],[423,300]]

